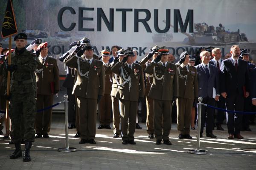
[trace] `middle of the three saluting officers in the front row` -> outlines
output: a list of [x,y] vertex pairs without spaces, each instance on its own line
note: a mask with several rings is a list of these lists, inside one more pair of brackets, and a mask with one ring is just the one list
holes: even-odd
[[113,65],[111,70],[119,75],[115,97],[119,99],[122,144],[136,144],[134,132],[138,101],[145,93],[144,76],[142,66],[133,62],[135,54],[132,49],[125,50],[124,54],[122,61]]

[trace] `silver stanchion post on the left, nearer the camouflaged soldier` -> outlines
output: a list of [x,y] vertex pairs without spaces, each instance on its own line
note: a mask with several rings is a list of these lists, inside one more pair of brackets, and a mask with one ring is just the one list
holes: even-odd
[[61,147],[58,149],[59,152],[74,152],[76,151],[75,147],[69,147],[68,143],[68,114],[67,114],[67,98],[68,95],[64,95],[64,109],[65,109],[65,135],[66,135],[66,147]]

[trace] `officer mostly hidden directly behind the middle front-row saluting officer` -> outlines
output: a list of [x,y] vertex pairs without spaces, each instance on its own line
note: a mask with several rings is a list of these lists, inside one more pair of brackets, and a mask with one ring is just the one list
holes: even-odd
[[[124,49],[119,49],[116,53],[118,54],[114,59],[111,65],[109,66],[112,68],[112,66],[117,63],[118,61],[122,61],[124,56]],[[112,52],[113,54],[113,52]],[[119,82],[119,75],[112,72],[112,89],[111,89],[111,101],[112,101],[112,112],[113,112],[113,138],[119,138],[120,137],[120,112],[119,112],[119,100],[116,98],[116,91],[117,91],[117,83]]]

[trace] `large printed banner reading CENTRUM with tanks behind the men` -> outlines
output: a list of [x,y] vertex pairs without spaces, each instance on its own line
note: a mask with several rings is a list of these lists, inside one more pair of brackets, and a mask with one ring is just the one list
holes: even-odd
[[[87,37],[96,55],[118,45],[135,49],[140,60],[158,45],[169,47],[176,60],[201,46],[221,48],[224,57],[238,44],[256,61],[256,0],[13,0],[13,6],[18,31],[28,35],[28,43],[48,42],[56,58]],[[0,41],[8,47],[8,40]],[[65,75],[64,64],[58,66]]]

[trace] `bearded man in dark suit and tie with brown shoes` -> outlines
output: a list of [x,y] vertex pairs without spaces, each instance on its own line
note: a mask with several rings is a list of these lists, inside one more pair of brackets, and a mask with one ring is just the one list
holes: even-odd
[[[243,111],[244,98],[249,96],[248,63],[239,58],[240,48],[230,48],[231,58],[221,63],[221,95],[225,98],[228,110]],[[229,139],[244,137],[240,135],[241,114],[227,113]]]

